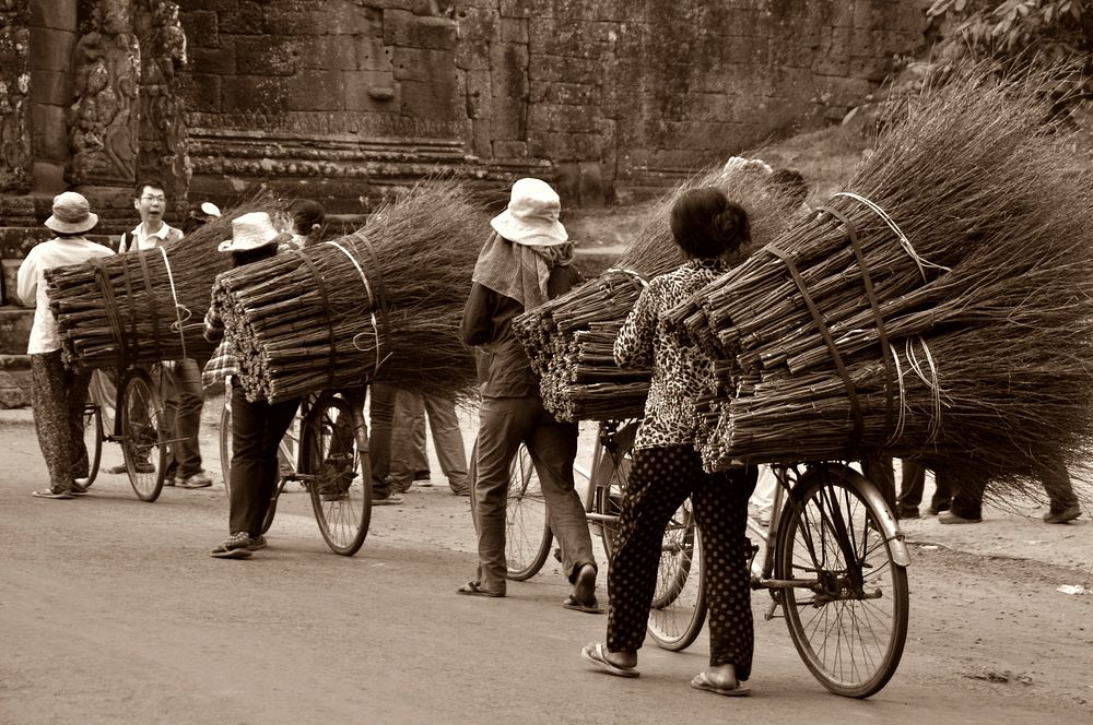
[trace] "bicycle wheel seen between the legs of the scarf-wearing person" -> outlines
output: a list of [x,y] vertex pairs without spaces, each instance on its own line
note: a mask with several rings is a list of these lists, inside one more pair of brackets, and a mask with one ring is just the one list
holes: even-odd
[[550,556],[554,540],[550,530],[546,499],[531,454],[520,443],[509,473],[508,499],[505,503],[506,575],[522,582],[539,573]]

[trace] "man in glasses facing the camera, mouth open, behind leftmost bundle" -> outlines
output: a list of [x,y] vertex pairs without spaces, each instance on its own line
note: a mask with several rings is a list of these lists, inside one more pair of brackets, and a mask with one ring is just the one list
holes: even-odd
[[[183,233],[163,221],[167,211],[167,195],[163,183],[155,179],[141,181],[136,187],[133,207],[140,213],[140,224],[132,231],[121,235],[118,252],[133,250],[151,251],[162,245],[179,241]],[[201,407],[204,405],[201,389],[201,368],[197,360],[185,358],[171,366],[178,388],[175,395],[166,401],[167,420],[172,424],[172,438],[178,442],[172,445],[167,462],[165,486],[180,488],[204,488],[212,485],[212,478],[201,467],[201,449],[198,432],[201,428]],[[125,466],[110,468],[110,473],[124,473]]]

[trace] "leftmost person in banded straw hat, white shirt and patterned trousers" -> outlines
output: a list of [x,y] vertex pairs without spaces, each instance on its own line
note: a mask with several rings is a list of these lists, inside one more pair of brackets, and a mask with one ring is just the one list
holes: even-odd
[[[114,251],[84,235],[98,224],[98,215],[82,194],[66,191],[54,198],[46,226],[57,236],[32,249],[19,268],[19,298],[34,307],[31,340],[31,406],[38,445],[49,470],[49,488],[38,498],[70,499],[85,494],[87,448],[83,442],[83,407],[87,402],[91,370],[71,370],[61,359],[57,320],[46,296],[46,270],[79,264]],[[82,479],[82,480],[81,480]]]

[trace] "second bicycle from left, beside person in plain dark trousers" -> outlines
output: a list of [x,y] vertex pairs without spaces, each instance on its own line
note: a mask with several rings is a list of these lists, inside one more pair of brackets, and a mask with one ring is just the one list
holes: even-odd
[[[221,468],[231,496],[232,394],[226,394],[220,418]],[[285,486],[295,482],[308,492],[315,521],[334,554],[353,556],[372,520],[372,470],[364,428],[361,391],[324,391],[301,402],[295,421],[279,445],[281,477],[262,521],[269,531]]]

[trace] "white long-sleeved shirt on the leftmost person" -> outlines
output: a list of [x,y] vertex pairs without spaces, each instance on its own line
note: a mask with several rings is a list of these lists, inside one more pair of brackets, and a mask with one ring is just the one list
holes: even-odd
[[27,355],[52,353],[61,348],[57,319],[49,309],[49,297],[46,295],[46,270],[79,264],[93,257],[108,257],[113,253],[114,250],[109,247],[83,237],[58,237],[43,241],[27,252],[16,277],[20,300],[27,307],[34,307],[31,340],[26,345]]

